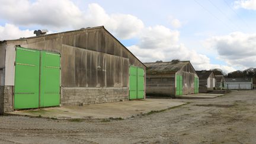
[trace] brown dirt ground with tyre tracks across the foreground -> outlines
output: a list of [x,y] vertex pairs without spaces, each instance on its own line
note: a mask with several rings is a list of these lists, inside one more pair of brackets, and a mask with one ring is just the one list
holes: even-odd
[[256,143],[256,91],[125,120],[0,117],[0,143]]

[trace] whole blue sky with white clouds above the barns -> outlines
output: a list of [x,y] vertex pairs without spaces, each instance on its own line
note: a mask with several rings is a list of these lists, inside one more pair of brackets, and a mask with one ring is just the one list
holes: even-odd
[[[178,58],[191,60],[196,69],[226,72],[256,67],[256,42],[250,41],[256,40],[255,0],[13,0],[1,4],[0,39],[30,36],[39,28],[55,33],[105,25],[143,62]],[[15,7],[24,8],[23,15]],[[41,9],[49,9],[49,14]],[[7,26],[18,28],[17,34],[3,32]]]

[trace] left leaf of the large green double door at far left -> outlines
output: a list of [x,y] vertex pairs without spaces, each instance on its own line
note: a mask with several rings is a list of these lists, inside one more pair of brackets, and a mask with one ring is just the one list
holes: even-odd
[[16,47],[14,109],[39,107],[38,50]]

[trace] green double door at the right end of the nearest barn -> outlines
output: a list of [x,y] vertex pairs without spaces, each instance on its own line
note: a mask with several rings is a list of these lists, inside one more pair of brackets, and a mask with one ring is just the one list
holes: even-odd
[[143,99],[144,98],[144,69],[136,66],[130,66],[130,88],[129,99]]

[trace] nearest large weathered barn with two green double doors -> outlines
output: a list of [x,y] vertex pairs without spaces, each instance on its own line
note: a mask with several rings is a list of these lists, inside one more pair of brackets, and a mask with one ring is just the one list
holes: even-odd
[[0,41],[0,113],[145,98],[146,66],[105,28]]

